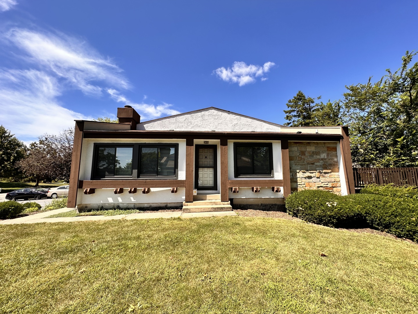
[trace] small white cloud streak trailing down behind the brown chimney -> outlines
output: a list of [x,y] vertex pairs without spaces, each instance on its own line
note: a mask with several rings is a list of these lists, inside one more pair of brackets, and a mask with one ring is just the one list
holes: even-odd
[[116,100],[118,103],[125,103],[125,105],[132,106],[133,108],[140,111],[141,118],[148,119],[148,118],[158,118],[161,117],[163,114],[166,114],[168,116],[172,116],[174,114],[180,113],[177,110],[171,109],[170,107],[173,105],[170,105],[168,103],[163,103],[163,105],[152,105],[148,103],[133,103],[130,100],[128,100],[124,95],[120,94],[117,90],[114,90],[112,88],[109,88],[107,90],[107,93],[110,94],[110,96]]

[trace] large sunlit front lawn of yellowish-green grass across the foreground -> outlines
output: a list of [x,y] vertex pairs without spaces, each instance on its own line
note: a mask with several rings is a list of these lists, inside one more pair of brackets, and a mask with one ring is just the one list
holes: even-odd
[[0,239],[1,313],[418,312],[418,245],[378,235],[234,216],[19,224]]

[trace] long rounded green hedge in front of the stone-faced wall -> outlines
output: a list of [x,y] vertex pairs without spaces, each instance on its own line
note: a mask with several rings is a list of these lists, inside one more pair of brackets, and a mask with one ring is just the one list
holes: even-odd
[[418,201],[414,198],[367,193],[337,196],[303,190],[288,196],[286,208],[292,216],[315,224],[334,228],[370,226],[418,242]]

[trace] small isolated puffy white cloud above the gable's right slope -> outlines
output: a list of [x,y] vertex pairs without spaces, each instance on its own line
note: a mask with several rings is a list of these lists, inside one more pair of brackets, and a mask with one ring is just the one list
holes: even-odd
[[[263,66],[249,64],[245,62],[234,62],[232,68],[225,69],[224,67],[217,68],[214,73],[225,82],[238,83],[240,86],[244,86],[249,83],[254,83],[256,77],[263,76],[270,71],[270,68],[275,65],[274,62],[266,62]],[[267,80],[263,77],[262,81]]]

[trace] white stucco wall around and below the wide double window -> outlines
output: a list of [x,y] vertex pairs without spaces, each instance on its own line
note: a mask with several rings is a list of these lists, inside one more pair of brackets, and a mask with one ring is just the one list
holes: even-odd
[[[83,139],[79,180],[91,180],[94,143],[178,143],[178,180],[186,180],[185,139]],[[151,188],[151,192],[148,194],[142,194],[139,189],[135,194],[129,194],[127,189],[122,194],[114,194],[113,189],[96,189],[94,194],[86,195],[83,193],[83,189],[79,189],[77,204],[181,203],[184,201],[184,196],[184,188],[178,188],[177,193],[171,193],[171,187]],[[108,198],[111,198],[112,201]]]

